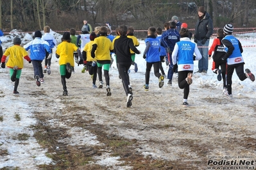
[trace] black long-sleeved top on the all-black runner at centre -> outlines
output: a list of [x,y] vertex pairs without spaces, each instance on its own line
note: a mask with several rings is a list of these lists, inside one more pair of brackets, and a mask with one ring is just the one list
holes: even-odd
[[132,63],[130,49],[136,54],[140,54],[139,50],[133,45],[132,38],[127,38],[126,35],[121,35],[115,40],[114,53],[116,55],[117,63]]

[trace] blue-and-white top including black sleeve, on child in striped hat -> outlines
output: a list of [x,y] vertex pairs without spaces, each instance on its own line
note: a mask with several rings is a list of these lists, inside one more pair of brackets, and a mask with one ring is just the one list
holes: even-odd
[[223,59],[227,59],[226,63],[228,65],[244,64],[242,56],[243,47],[235,36],[226,35],[225,38],[222,39],[222,43],[226,47],[226,54]]

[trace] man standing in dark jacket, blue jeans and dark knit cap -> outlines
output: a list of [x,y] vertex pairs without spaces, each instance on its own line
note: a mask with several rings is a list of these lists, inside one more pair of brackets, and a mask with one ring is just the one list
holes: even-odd
[[198,8],[198,20],[194,32],[194,42],[197,43],[202,58],[198,61],[198,73],[207,73],[208,50],[210,36],[213,33],[212,19],[203,6]]

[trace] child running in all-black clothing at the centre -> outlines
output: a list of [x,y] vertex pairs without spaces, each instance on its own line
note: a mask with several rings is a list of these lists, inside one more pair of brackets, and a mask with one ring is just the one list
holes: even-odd
[[130,86],[130,77],[128,70],[132,65],[132,58],[130,50],[136,54],[141,54],[139,50],[136,49],[133,40],[126,36],[128,28],[126,26],[119,27],[120,37],[115,40],[114,52],[116,54],[117,63],[119,65],[118,72],[123,82],[123,88],[126,93],[127,101],[126,107],[132,106],[132,87]]

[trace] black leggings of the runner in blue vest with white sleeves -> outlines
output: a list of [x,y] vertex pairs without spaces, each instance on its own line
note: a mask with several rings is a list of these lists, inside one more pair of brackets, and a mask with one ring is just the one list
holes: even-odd
[[178,72],[178,87],[183,89],[183,99],[187,99],[189,97],[189,84],[187,84],[187,81],[185,80],[188,73],[193,73],[193,71],[188,70]]

